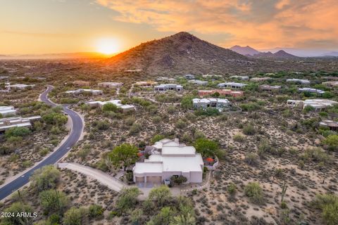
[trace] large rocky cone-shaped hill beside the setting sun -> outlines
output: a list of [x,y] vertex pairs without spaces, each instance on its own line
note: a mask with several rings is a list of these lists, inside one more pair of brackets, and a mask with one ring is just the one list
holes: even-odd
[[149,74],[226,73],[251,68],[255,59],[203,41],[187,32],[148,41],[107,62],[119,70],[142,69]]

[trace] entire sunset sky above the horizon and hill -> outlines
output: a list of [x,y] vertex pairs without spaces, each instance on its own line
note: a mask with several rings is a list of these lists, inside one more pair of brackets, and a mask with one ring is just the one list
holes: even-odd
[[0,54],[124,51],[180,31],[223,47],[337,51],[337,21],[337,0],[0,0]]

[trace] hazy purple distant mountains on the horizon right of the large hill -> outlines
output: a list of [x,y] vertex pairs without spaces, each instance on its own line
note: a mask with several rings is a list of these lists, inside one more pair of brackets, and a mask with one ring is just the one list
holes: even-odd
[[255,57],[255,58],[297,58],[297,56],[294,56],[290,53],[287,53],[284,50],[277,51],[275,53],[272,53],[270,51],[268,52],[261,52],[257,51],[256,49],[251,48],[250,46],[232,46],[230,50],[237,52],[243,56],[250,56],[250,57]]

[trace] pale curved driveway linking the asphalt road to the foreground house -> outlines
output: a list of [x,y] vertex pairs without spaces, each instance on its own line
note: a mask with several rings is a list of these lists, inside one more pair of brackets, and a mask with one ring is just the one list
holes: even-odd
[[123,187],[125,187],[125,185],[121,181],[115,179],[113,176],[109,176],[108,174],[101,172],[99,169],[86,167],[75,162],[59,162],[58,168],[66,168],[76,172],[80,172],[81,174],[84,174],[86,176],[90,176],[93,179],[99,181],[101,184],[104,184],[108,188],[111,188],[113,191],[120,191]]

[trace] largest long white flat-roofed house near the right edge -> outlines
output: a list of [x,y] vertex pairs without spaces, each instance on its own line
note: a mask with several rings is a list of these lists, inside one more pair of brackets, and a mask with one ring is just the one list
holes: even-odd
[[299,107],[299,108],[306,108],[306,106],[311,106],[315,108],[315,110],[323,110],[327,107],[332,105],[336,105],[337,101],[331,101],[327,99],[306,99],[305,101],[301,100],[288,100],[287,106],[289,107]]

